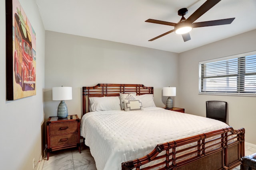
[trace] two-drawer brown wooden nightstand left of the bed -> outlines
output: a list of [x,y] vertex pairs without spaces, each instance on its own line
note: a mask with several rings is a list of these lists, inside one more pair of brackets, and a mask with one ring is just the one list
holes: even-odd
[[77,147],[80,150],[80,119],[78,115],[68,115],[59,119],[49,117],[47,123],[47,160],[50,152]]

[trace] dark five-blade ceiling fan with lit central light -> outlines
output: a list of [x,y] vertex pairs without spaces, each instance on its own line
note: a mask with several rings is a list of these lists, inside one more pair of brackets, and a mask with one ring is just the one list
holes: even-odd
[[214,5],[216,5],[220,0],[207,0],[200,6],[191,16],[188,17],[188,19],[184,18],[184,15],[188,13],[187,8],[182,8],[178,10],[178,15],[182,16],[180,21],[178,23],[173,22],[167,22],[167,21],[159,21],[159,20],[153,20],[148,19],[145,22],[151,22],[151,23],[158,23],[163,25],[171,25],[174,26],[174,29],[171,31],[168,31],[166,33],[163,33],[157,37],[154,37],[148,41],[153,41],[155,39],[158,39],[164,35],[167,35],[169,33],[175,32],[177,34],[181,34],[184,42],[190,40],[190,34],[189,32],[192,30],[192,28],[196,27],[208,27],[208,26],[214,26],[214,25],[225,25],[230,24],[235,18],[228,18],[228,19],[222,19],[222,20],[212,20],[212,21],[204,21],[204,22],[195,22],[200,16],[202,16],[204,13],[206,13],[208,10],[210,10]]

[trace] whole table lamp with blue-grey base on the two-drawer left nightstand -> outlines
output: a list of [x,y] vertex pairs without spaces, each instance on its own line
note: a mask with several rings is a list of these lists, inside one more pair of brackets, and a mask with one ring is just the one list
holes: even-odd
[[68,117],[68,107],[64,100],[72,100],[72,87],[53,87],[52,100],[60,100],[57,111],[58,118]]

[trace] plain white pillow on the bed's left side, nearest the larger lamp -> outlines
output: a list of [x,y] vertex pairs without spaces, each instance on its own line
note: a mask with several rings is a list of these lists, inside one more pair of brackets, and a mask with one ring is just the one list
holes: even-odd
[[91,111],[121,110],[119,96],[90,97]]

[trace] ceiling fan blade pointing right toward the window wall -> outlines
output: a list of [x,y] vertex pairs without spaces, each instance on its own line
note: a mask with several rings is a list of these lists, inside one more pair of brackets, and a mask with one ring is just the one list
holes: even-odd
[[230,24],[235,18],[227,18],[222,20],[213,20],[213,21],[204,21],[204,22],[195,22],[192,23],[192,27],[208,27],[208,26],[214,26],[214,25],[225,25]]

